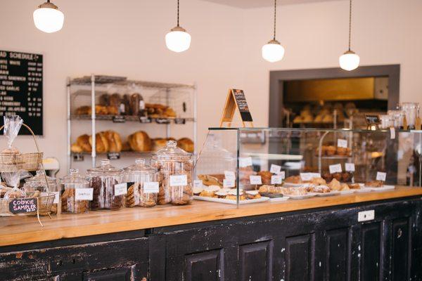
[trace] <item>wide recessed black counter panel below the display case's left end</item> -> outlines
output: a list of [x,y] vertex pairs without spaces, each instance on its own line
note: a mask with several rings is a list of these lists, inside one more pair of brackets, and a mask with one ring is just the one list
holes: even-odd
[[224,280],[223,249],[188,254],[184,262],[184,279],[186,281]]

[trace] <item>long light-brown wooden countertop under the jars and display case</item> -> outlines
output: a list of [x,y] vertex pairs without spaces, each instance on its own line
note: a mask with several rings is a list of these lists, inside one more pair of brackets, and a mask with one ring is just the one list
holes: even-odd
[[236,209],[236,205],[194,200],[191,205],[179,207],[168,205],[153,208],[121,209],[119,211],[90,211],[87,214],[79,215],[59,214],[52,216],[53,219],[41,218],[44,228],[39,225],[36,217],[3,217],[0,218],[0,246],[418,195],[422,195],[422,188],[397,186],[395,190],[381,192],[245,204],[238,209]]

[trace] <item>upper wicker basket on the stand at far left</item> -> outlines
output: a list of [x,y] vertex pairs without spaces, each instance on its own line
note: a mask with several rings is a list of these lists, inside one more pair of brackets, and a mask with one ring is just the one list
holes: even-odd
[[42,155],[42,152],[0,154],[0,171],[37,171],[42,160]]

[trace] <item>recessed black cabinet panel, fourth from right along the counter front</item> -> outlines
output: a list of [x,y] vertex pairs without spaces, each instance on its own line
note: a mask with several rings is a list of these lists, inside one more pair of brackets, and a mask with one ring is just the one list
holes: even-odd
[[314,280],[315,235],[286,238],[287,281]]

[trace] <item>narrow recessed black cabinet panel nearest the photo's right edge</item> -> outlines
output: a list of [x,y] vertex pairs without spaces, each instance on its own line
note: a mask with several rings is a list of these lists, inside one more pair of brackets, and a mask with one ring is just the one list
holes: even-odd
[[409,218],[392,221],[392,280],[408,280],[411,237],[409,236]]

